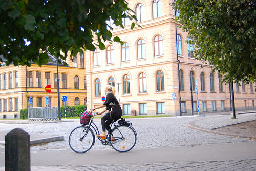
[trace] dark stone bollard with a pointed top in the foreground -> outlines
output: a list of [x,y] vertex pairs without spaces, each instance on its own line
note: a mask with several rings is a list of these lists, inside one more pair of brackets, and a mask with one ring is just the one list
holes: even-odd
[[5,171],[30,170],[30,135],[15,128],[5,136]]

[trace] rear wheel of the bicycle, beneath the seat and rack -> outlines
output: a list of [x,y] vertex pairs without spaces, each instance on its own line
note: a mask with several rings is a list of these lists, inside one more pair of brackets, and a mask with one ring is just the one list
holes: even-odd
[[130,151],[136,144],[137,136],[128,125],[118,125],[110,134],[110,144],[118,152]]

